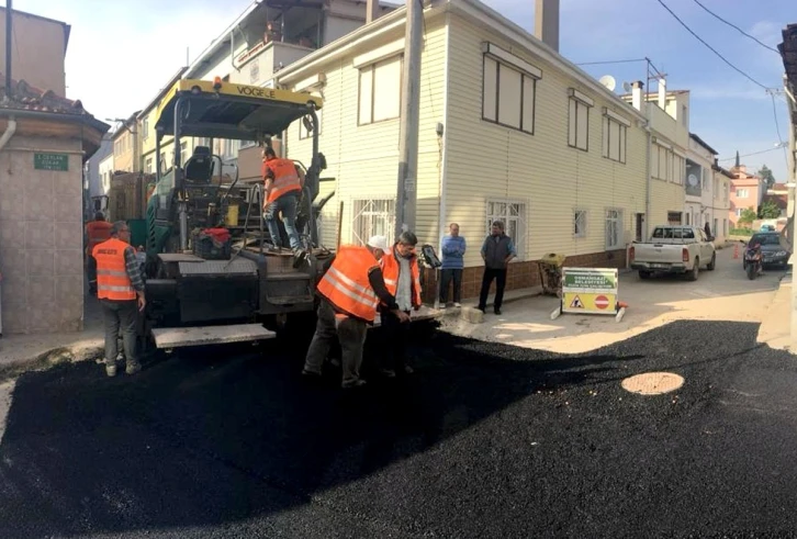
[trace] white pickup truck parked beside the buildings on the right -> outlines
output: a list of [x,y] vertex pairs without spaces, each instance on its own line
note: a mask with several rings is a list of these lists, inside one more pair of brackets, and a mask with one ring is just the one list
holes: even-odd
[[656,226],[648,242],[631,244],[631,269],[639,271],[640,279],[661,272],[682,273],[696,281],[701,266],[711,271],[717,265],[712,240],[699,226]]

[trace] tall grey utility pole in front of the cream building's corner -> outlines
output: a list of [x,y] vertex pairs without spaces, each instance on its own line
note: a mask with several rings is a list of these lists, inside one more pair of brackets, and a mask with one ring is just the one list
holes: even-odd
[[404,32],[404,69],[398,127],[398,190],[395,206],[395,239],[415,229],[418,177],[418,123],[420,116],[420,47],[423,45],[423,0],[407,0]]

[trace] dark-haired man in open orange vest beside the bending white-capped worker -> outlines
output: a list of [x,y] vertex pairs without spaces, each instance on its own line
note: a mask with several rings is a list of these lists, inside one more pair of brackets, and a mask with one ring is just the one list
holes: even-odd
[[406,362],[406,332],[409,327],[409,311],[420,308],[420,268],[415,254],[417,236],[412,232],[403,232],[393,248],[385,252],[380,260],[382,274],[388,291],[395,296],[400,313],[406,317],[395,315],[396,311],[388,308],[380,303],[379,312],[382,327],[389,339],[385,353],[382,356],[380,371],[388,378],[394,378],[396,372],[412,374],[413,368]]

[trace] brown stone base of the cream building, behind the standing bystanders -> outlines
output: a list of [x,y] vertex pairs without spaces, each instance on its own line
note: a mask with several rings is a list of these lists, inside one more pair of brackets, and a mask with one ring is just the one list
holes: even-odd
[[[625,249],[593,252],[590,255],[573,255],[566,258],[564,265],[579,268],[625,268],[626,267]],[[509,263],[509,270],[506,276],[506,290],[518,290],[540,284],[540,274],[536,261],[523,261]],[[478,299],[482,288],[482,274],[484,267],[465,268],[462,273],[462,299]],[[437,290],[437,281],[435,271],[424,270],[424,302],[434,303]],[[490,289],[490,293],[495,293],[495,281]],[[452,301],[451,293],[448,294],[449,301]]]

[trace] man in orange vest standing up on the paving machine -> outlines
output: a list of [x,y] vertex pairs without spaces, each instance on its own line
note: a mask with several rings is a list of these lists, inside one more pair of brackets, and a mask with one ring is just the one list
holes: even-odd
[[278,225],[278,215],[282,213],[282,222],[285,224],[291,249],[294,255],[301,256],[296,210],[299,196],[304,188],[304,173],[292,160],[278,158],[273,148],[266,146],[263,148],[262,178],[266,188],[262,205],[263,218],[269,227],[271,243],[276,248],[282,246]]

